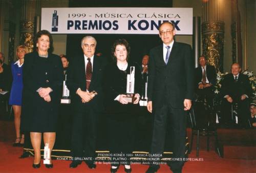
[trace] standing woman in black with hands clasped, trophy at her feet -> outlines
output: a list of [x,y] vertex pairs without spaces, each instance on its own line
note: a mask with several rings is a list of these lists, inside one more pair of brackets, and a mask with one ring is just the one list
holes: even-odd
[[53,40],[49,31],[41,30],[34,38],[34,52],[25,55],[23,67],[23,116],[22,129],[30,132],[34,149],[33,167],[40,167],[40,145],[43,134],[44,143],[51,150],[56,136],[60,86],[63,68],[60,57],[52,54]]

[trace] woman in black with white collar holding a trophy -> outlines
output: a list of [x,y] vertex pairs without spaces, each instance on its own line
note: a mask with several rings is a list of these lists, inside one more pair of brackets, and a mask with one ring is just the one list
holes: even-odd
[[[103,90],[105,109],[108,114],[109,147],[113,155],[124,154],[124,162],[112,163],[111,172],[116,172],[120,164],[124,164],[125,172],[132,171],[126,154],[131,154],[133,149],[140,98],[138,93],[140,93],[142,79],[138,64],[128,62],[129,54],[129,43],[125,39],[116,40],[112,47],[114,62],[106,66],[104,71]],[[131,66],[135,67],[134,103],[128,103],[124,99],[127,74],[130,74]]]

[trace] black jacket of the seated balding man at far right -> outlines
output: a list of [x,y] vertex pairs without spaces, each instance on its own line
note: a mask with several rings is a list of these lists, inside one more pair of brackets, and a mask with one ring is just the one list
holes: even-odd
[[252,95],[252,88],[248,77],[244,74],[239,74],[238,81],[234,81],[233,74],[225,75],[221,83],[221,97],[229,95],[231,98],[241,97],[246,94],[248,97]]

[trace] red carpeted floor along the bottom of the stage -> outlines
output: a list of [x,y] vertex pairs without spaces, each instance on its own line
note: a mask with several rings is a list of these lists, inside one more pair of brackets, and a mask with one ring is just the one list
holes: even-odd
[[[8,135],[7,135],[8,134]],[[69,168],[70,161],[53,160],[54,168],[47,169],[44,165],[41,165],[39,169],[32,168],[33,157],[19,159],[23,149],[21,147],[12,147],[14,140],[14,127],[11,121],[0,121],[0,172],[110,172],[110,165],[97,164],[97,168],[90,170],[85,163],[82,163],[77,168]],[[223,159],[220,158],[215,152],[214,147],[210,145],[210,151],[206,151],[204,137],[201,137],[200,142],[200,155],[201,161],[188,161],[185,163],[183,173],[224,173],[224,172],[237,172],[237,173],[253,173],[256,172],[255,164],[256,160],[241,160],[241,159]],[[194,141],[196,142],[196,141]],[[196,144],[196,143],[195,143]],[[189,155],[189,158],[193,160],[196,158],[196,150],[194,149]],[[42,161],[41,161],[42,164]],[[133,164],[133,172],[142,173],[147,169],[147,165]],[[124,172],[123,166],[121,166],[118,172]],[[160,173],[172,172],[168,166],[161,165],[159,169]]]

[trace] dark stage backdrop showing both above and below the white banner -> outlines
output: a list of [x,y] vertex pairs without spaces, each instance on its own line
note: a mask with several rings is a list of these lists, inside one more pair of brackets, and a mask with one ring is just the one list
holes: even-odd
[[[78,1],[71,0],[69,7],[173,7],[172,0],[158,1],[127,1],[127,0],[93,0],[93,1]],[[131,46],[130,60],[141,63],[142,56],[147,54],[150,49],[161,44],[161,39],[158,35],[143,35],[143,34],[68,34],[67,37],[67,56],[72,58],[82,53],[81,39],[86,35],[92,35],[97,40],[96,53],[101,52],[104,57],[111,59],[111,47],[114,41],[118,38],[126,39]]]

